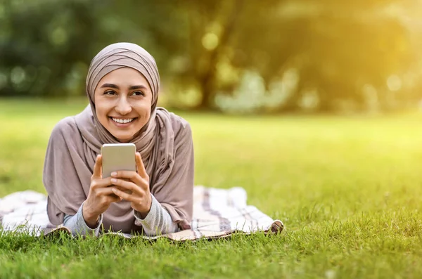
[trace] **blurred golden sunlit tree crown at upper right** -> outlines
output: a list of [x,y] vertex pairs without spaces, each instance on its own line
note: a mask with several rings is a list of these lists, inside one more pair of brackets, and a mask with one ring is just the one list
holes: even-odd
[[[339,99],[362,104],[365,84],[384,89],[390,75],[402,74],[413,62],[407,29],[383,13],[397,1],[278,2],[243,10],[233,61],[257,68],[267,84],[288,67],[300,71],[297,91],[279,110],[297,109],[302,93],[313,89],[319,110],[333,110]],[[260,20],[250,20],[252,14]]]

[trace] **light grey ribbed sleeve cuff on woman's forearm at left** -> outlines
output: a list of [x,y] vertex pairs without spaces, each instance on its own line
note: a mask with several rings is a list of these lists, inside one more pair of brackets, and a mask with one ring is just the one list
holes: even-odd
[[103,223],[103,214],[100,215],[96,228],[89,228],[85,223],[84,215],[82,214],[82,207],[79,207],[75,215],[65,215],[63,226],[68,228],[73,236],[76,235],[95,235],[98,236],[100,233],[100,227]]

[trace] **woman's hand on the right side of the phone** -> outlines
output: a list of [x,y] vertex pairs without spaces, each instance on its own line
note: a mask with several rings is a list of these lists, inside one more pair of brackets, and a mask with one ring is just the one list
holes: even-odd
[[116,187],[113,193],[123,200],[131,202],[131,207],[139,212],[144,219],[151,209],[152,198],[149,190],[149,176],[141,159],[136,153],[136,168],[138,171],[115,171],[110,180]]

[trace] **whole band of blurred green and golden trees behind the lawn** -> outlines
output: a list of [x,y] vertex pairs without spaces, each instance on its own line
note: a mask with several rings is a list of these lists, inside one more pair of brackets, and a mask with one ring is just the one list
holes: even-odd
[[418,0],[0,0],[0,97],[84,96],[96,53],[130,41],[157,60],[168,108],[417,108],[420,15]]

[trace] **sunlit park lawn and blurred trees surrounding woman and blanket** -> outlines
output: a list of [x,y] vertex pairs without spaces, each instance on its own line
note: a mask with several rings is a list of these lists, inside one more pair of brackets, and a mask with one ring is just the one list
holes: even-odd
[[146,48],[193,129],[196,184],[286,230],[174,245],[0,231],[1,278],[418,278],[422,2],[0,0],[0,197],[45,193],[91,59]]

